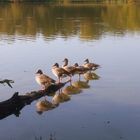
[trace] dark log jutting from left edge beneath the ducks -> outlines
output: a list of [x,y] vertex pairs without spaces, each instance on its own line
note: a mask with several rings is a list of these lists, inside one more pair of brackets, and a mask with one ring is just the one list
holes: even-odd
[[50,85],[46,90],[39,90],[39,91],[31,91],[26,93],[25,95],[19,95],[18,92],[14,93],[14,95],[3,102],[0,102],[0,119],[4,119],[9,115],[16,115],[17,117],[20,114],[20,110],[26,106],[31,104],[33,101],[46,96],[50,95],[53,92],[61,89],[65,86],[69,81],[64,83],[56,83]]

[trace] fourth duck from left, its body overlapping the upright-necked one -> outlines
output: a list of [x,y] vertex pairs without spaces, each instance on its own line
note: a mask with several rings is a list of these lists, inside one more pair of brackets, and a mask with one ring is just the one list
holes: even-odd
[[78,63],[75,63],[73,66],[76,68],[75,74],[79,74],[79,80],[80,80],[81,74],[84,74],[87,71],[89,71],[89,68],[86,68],[84,66],[79,66]]

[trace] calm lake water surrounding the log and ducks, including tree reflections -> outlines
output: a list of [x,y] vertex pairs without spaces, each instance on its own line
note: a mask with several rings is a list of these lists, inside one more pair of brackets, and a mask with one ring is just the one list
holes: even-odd
[[37,69],[55,78],[51,66],[65,57],[71,65],[89,58],[101,68],[98,80],[82,76],[86,88],[58,107],[39,115],[43,97],[19,117],[1,119],[0,140],[139,140],[139,44],[139,4],[1,4],[0,78],[15,83],[0,85],[0,101],[39,90]]

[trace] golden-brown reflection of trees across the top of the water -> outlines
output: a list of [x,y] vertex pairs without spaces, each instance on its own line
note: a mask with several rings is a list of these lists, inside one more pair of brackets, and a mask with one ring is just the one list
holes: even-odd
[[98,39],[106,33],[124,35],[128,31],[140,31],[139,9],[137,4],[1,4],[0,39],[5,39],[5,35],[13,41],[17,36],[34,40],[39,35],[44,39],[74,35],[81,39]]

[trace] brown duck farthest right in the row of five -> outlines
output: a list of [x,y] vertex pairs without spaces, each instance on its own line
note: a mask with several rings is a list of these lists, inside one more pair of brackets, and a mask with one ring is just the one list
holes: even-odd
[[[98,64],[90,63],[90,62],[89,62],[89,59],[86,59],[84,62],[85,62],[85,63],[83,64],[83,66],[84,66],[85,68],[88,68],[90,71],[91,71],[91,70],[96,70],[97,68],[100,67],[100,65],[98,65]],[[93,69],[93,68],[94,68],[94,69]]]

